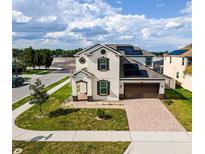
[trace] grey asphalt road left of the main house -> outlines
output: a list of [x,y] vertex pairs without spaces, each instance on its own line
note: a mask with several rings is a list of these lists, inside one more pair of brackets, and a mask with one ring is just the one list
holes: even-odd
[[70,75],[75,69],[75,60],[71,58],[55,58],[52,67],[60,67],[62,70],[53,71],[46,75],[33,75],[23,86],[12,88],[12,103],[30,94],[29,85],[36,79],[40,79],[45,86],[48,86],[64,77]]

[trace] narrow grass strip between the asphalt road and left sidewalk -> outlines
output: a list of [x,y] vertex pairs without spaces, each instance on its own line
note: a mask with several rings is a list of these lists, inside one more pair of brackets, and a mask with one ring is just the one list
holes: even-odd
[[[69,77],[65,77],[65,78],[63,78],[63,79],[61,79],[61,80],[59,80],[59,81],[57,81],[57,82],[55,82],[55,83],[53,83],[53,84],[51,84],[51,85],[45,87],[45,90],[48,91],[48,90],[52,89],[53,87],[55,87],[55,86],[57,86],[58,84],[64,82],[64,81],[67,80],[68,78],[69,78]],[[21,106],[21,105],[27,103],[28,101],[30,101],[30,99],[31,99],[31,97],[30,97],[30,96],[27,96],[27,97],[25,97],[25,98],[23,98],[23,99],[21,99],[21,100],[15,102],[14,104],[12,104],[12,110],[15,110],[15,109],[18,108],[19,106]]]

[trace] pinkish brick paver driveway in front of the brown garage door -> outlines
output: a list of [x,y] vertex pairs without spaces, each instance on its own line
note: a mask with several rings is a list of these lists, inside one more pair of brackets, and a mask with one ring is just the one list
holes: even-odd
[[185,131],[159,99],[124,100],[131,131]]

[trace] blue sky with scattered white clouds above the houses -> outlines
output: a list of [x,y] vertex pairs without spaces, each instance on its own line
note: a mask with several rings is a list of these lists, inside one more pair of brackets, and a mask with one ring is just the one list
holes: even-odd
[[192,41],[190,0],[13,0],[14,48],[122,43],[172,51]]

